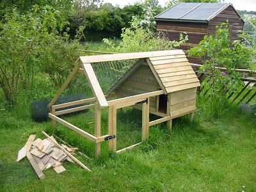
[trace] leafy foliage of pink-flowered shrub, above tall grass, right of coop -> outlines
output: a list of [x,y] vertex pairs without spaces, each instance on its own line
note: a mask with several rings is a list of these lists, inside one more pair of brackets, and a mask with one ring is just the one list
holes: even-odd
[[[216,35],[204,36],[198,47],[189,51],[189,56],[197,57],[204,64],[200,67],[201,72],[207,73],[211,87],[211,95],[223,96],[229,90],[236,90],[240,81],[240,74],[233,70],[243,63],[248,65],[252,59],[252,52],[239,41],[232,42],[228,23],[216,26]],[[221,70],[217,67],[225,67]]]

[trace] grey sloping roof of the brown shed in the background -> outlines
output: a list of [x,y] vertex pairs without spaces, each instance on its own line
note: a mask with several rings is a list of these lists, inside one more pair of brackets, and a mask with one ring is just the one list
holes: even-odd
[[178,3],[156,16],[156,20],[208,22],[231,3]]

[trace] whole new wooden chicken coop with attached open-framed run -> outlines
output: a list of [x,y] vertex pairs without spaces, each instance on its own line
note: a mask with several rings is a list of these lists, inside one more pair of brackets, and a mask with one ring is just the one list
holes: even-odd
[[[118,60],[132,60],[134,65],[104,94],[92,65]],[[86,76],[95,97],[54,105],[54,102],[78,72]],[[120,153],[140,143],[116,150],[116,137],[118,138],[116,135],[116,129],[118,129],[116,127],[116,109],[132,106],[142,110],[141,142],[143,142],[148,138],[150,126],[167,122],[168,128],[171,129],[173,118],[189,114],[191,120],[193,119],[198,86],[200,86],[199,80],[182,50],[80,56],[76,67],[50,102],[49,117],[52,120],[53,129],[58,122],[95,142],[95,156],[99,156],[100,143],[103,141],[109,142],[109,150]],[[78,104],[83,104],[83,106],[77,107]],[[61,109],[70,106],[74,108]],[[95,108],[94,135],[84,131],[85,127],[80,129],[59,117],[65,113],[90,108]],[[104,136],[100,134],[102,108],[108,108],[108,134]],[[149,113],[158,115],[160,118],[150,121]]]

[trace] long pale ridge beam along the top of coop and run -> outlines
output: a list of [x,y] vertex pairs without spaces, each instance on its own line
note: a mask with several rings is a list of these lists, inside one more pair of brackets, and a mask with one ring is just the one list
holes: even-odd
[[150,51],[150,52],[129,52],[118,54],[103,54],[97,56],[80,56],[79,60],[82,63],[98,63],[103,61],[119,61],[119,60],[133,60],[142,58],[152,58],[155,56],[167,56],[173,54],[182,54],[181,49],[170,51]]

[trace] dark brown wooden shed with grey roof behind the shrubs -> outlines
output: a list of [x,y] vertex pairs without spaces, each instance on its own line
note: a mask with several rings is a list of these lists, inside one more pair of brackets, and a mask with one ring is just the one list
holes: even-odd
[[[205,35],[214,35],[216,25],[227,22],[231,40],[239,40],[244,21],[231,3],[177,3],[156,16],[156,30],[164,31],[170,40],[179,40],[180,33],[188,33],[188,41],[180,49],[195,47]],[[198,60],[189,58],[198,63]]]

